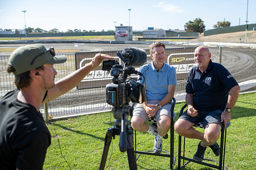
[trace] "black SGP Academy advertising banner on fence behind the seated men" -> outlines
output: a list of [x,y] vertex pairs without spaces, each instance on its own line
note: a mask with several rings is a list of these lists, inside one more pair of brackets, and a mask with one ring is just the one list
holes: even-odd
[[[188,73],[195,66],[193,59],[193,52],[195,48],[175,48],[175,49],[166,49],[166,63],[172,65],[176,69],[177,80],[183,80],[188,78]],[[152,62],[150,56],[150,51],[145,50],[147,53],[147,61],[145,64]],[[121,51],[105,51],[101,52],[108,54],[109,56],[115,56],[114,59],[117,60],[121,65],[121,59],[117,57],[117,52]],[[100,52],[77,52],[75,53],[76,61],[76,70],[80,69],[82,66],[85,66],[89,63],[96,53]],[[135,70],[139,71],[141,66],[133,66]],[[132,78],[136,78],[137,75],[131,75]],[[88,75],[81,81],[77,86],[77,89],[85,88],[96,88],[96,87],[105,87],[106,84],[112,83],[113,77],[110,75],[110,71],[102,70],[102,63],[96,69],[90,71]]]

